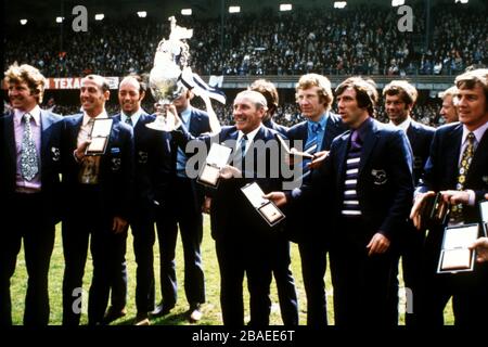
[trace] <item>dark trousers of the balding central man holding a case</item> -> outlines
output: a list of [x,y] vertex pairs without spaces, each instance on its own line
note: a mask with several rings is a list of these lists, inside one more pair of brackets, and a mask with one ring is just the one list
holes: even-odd
[[[239,231],[232,231],[239,232]],[[221,237],[216,240],[220,269],[220,306],[223,325],[244,325],[243,281],[247,277],[252,326],[269,324],[271,266],[269,245],[255,240]]]

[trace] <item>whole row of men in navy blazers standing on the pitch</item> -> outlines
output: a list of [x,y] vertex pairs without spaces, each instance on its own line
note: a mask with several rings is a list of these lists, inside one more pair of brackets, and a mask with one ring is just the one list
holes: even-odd
[[[166,314],[176,304],[178,227],[189,318],[198,321],[205,301],[200,252],[202,206],[210,214],[226,325],[244,324],[244,275],[249,291],[249,324],[269,323],[273,274],[283,322],[298,324],[290,240],[298,243],[309,325],[328,324],[328,254],[336,324],[397,324],[400,256],[406,286],[413,294],[413,312],[407,316],[407,324],[441,324],[444,306],[451,295],[457,324],[486,322],[486,265],[462,275],[437,274],[434,267],[442,228],[426,233],[414,227],[419,226],[420,206],[432,191],[440,191],[452,205],[462,205],[461,216],[457,214],[458,219],[450,222],[480,220],[477,204],[488,192],[487,78],[486,69],[457,78],[460,123],[437,130],[411,118],[418,94],[406,81],[391,81],[384,88],[390,119],[390,125],[384,125],[374,119],[378,93],[371,80],[351,77],[343,81],[335,90],[335,115],[331,112],[334,95],[330,81],[307,74],[296,86],[296,100],[306,120],[291,129],[272,121],[278,92],[272,83],[258,80],[233,101],[234,126],[211,132],[208,115],[189,104],[187,91],[165,106],[167,116],[179,117],[181,125],[171,132],[160,132],[145,127],[155,119],[141,108],[145,86],[137,76],[128,76],[119,86],[120,113],[110,117],[104,154],[91,156],[87,147],[93,120],[108,118],[104,105],[110,91],[104,78],[85,77],[80,88],[82,114],[62,119],[39,108],[42,75],[28,65],[11,66],[5,80],[14,112],[0,118],[0,160],[5,168],[0,171],[0,191],[9,202],[3,224],[9,232],[0,245],[0,323],[12,323],[10,278],[23,239],[29,275],[24,322],[49,322],[47,279],[59,220],[63,221],[65,257],[64,324],[79,323],[89,247],[93,258],[89,324],[110,323],[126,314],[129,226],[138,266],[136,324],[149,324],[151,312]],[[273,152],[277,136],[312,155],[311,159],[286,157],[287,165],[300,168],[299,177],[294,177],[298,187],[292,191],[283,191],[287,178],[272,165],[285,157],[281,146],[279,156]],[[204,143],[207,150],[211,143],[232,146],[232,162],[221,170],[216,188],[204,190],[188,177],[187,160],[193,154],[185,152],[190,141]],[[465,180],[457,185],[466,147],[471,166],[463,166]],[[258,183],[266,198],[283,207],[285,222],[270,224],[257,213],[242,192],[252,182]],[[28,218],[13,218],[13,211],[25,211]],[[154,222],[162,259],[163,301],[157,307]],[[484,241],[477,244],[481,255]]]

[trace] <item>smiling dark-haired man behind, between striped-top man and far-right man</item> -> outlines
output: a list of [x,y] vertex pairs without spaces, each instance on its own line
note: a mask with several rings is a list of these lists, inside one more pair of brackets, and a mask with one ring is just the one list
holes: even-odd
[[[431,149],[432,138],[435,129],[424,126],[410,116],[413,106],[415,105],[418,91],[415,87],[406,80],[393,80],[383,89],[383,98],[385,101],[386,114],[389,118],[389,124],[394,127],[402,129],[409,139],[413,152],[413,180],[415,185],[419,183],[424,165],[427,162],[428,151]],[[406,222],[404,232],[401,234],[402,239],[397,243],[394,252],[398,258],[401,256],[401,265],[403,270],[403,282],[406,293],[409,293],[407,303],[413,305],[413,312],[407,310],[406,324],[414,325],[416,306],[420,303],[420,281],[421,281],[421,256],[424,244],[424,233],[419,232],[412,223]],[[394,267],[391,277],[393,283],[393,301],[391,313],[398,317],[398,266]],[[411,294],[411,295],[410,295]]]

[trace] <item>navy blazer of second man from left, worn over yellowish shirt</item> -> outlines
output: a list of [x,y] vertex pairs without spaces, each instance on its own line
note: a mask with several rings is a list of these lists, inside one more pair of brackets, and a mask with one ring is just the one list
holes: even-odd
[[[79,214],[69,208],[77,206],[79,188],[78,175],[80,164],[76,162],[73,153],[77,147],[78,132],[84,115],[67,116],[63,119],[61,137],[61,156],[63,174],[64,206],[66,216]],[[90,208],[98,208],[104,216],[121,217],[128,220],[130,203],[133,192],[133,136],[132,128],[118,119],[114,119],[105,154],[100,160],[99,201],[93,202]]]

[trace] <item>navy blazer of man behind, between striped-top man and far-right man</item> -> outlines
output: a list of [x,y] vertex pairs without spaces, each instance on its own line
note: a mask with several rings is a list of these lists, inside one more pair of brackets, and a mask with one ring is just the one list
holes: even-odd
[[435,131],[436,129],[433,127],[427,127],[413,119],[407,129],[407,137],[409,138],[413,152],[413,181],[415,185],[419,184],[419,180],[424,171],[425,163],[427,163]]

